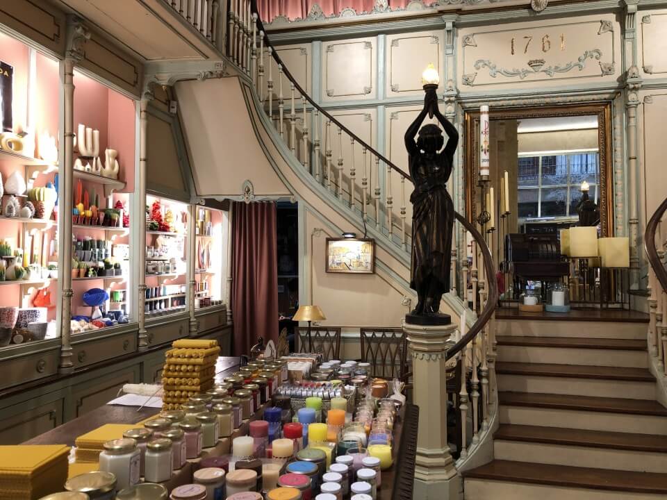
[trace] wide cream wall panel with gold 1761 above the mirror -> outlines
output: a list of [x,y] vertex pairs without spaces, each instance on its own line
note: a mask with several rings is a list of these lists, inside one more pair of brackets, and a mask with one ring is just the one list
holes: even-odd
[[465,91],[536,82],[582,85],[582,78],[612,81],[621,72],[619,40],[613,15],[464,28],[459,33],[459,85]]

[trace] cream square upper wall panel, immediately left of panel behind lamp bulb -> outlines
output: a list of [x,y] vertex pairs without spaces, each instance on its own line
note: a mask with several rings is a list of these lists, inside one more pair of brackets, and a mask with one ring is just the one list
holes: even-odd
[[375,38],[322,43],[322,101],[377,97]]

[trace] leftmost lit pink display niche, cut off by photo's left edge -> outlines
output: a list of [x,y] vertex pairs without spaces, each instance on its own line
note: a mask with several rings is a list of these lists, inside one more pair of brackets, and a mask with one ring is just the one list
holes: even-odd
[[0,33],[0,347],[58,336],[58,61]]

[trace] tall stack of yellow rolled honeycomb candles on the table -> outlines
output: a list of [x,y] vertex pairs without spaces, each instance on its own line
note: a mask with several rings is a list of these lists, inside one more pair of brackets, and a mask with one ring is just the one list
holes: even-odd
[[220,356],[217,340],[176,340],[165,356],[164,410],[178,410],[190,397],[213,387],[215,362]]

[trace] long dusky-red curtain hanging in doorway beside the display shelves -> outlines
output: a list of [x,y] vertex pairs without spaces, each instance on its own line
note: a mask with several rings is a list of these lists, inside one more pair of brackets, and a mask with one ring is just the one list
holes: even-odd
[[278,342],[276,204],[233,202],[231,217],[233,353],[259,337]]

